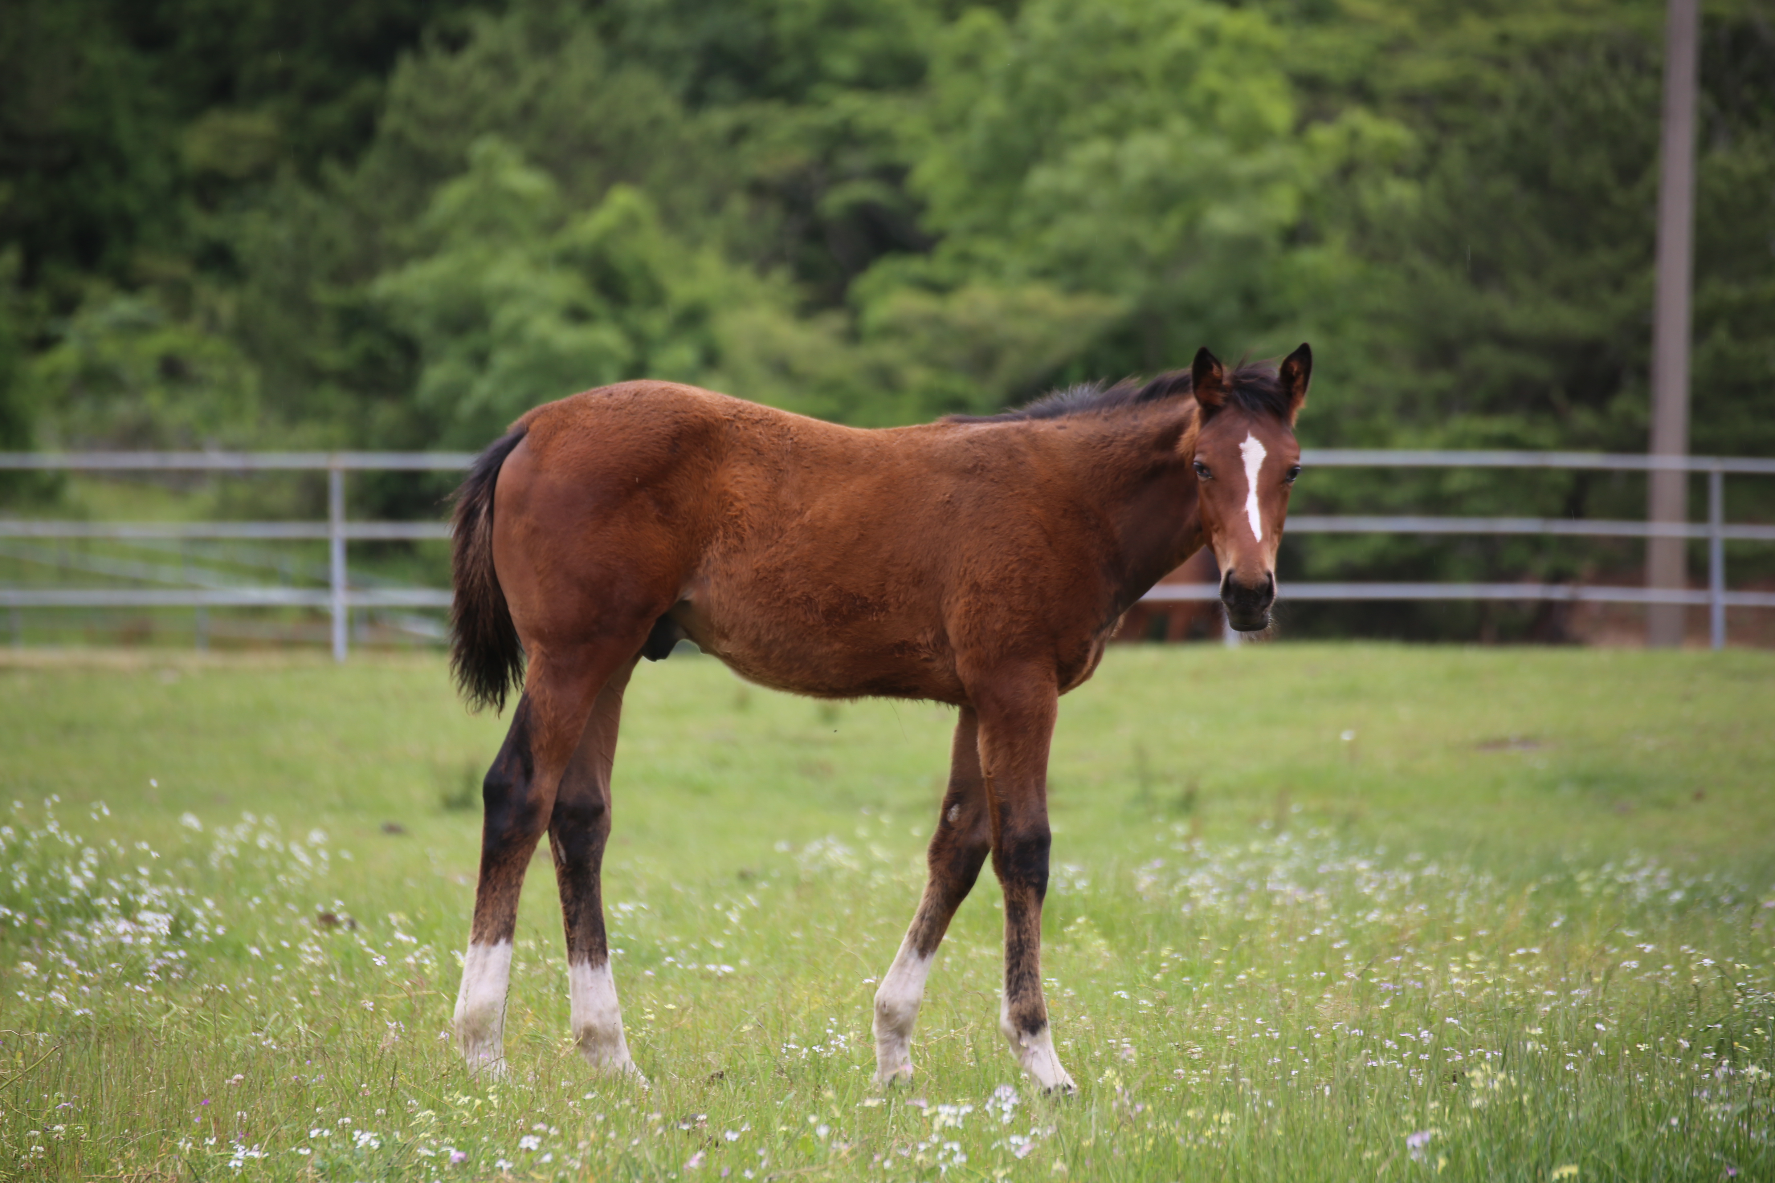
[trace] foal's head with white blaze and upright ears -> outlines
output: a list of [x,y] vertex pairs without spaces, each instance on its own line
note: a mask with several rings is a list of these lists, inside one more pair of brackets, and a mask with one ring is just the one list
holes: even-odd
[[1244,633],[1269,624],[1276,599],[1276,544],[1301,472],[1294,417],[1312,369],[1314,351],[1305,344],[1274,378],[1267,369],[1228,374],[1207,349],[1189,369],[1200,406],[1193,459],[1202,534],[1221,569],[1227,621]]

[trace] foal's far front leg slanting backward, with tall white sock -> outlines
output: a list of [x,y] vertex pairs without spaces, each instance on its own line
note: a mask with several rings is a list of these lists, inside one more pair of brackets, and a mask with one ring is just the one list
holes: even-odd
[[937,945],[950,929],[992,848],[974,711],[962,708],[950,756],[950,787],[943,795],[937,832],[925,862],[930,869],[900,952],[875,991],[875,1080],[893,1084],[912,1077],[912,1023],[925,999],[925,977]]

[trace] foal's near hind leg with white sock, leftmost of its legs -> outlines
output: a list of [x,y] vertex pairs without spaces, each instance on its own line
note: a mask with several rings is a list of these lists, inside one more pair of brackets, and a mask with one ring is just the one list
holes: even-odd
[[511,731],[481,786],[481,881],[454,1015],[456,1039],[470,1069],[504,1069],[506,988],[524,871],[548,828],[556,787],[598,690],[639,646],[637,637],[619,656],[611,647],[582,646],[531,658]]

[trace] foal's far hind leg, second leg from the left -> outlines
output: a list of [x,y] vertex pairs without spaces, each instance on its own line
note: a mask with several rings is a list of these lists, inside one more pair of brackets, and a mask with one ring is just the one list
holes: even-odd
[[548,823],[548,846],[561,887],[561,921],[566,926],[566,979],[573,1041],[593,1068],[641,1075],[628,1059],[623,1013],[616,1002],[611,947],[604,929],[600,869],[611,837],[611,764],[616,759],[616,729],[621,722],[623,690],[635,663],[623,665],[591,708],[573,763],[556,793]]

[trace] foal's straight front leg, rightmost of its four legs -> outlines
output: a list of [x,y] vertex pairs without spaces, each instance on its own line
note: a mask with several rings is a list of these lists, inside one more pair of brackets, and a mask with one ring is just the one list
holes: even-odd
[[[973,686],[971,686],[973,690]],[[1042,901],[1047,896],[1047,747],[1058,693],[1033,672],[987,681],[974,693],[980,764],[992,807],[992,869],[1005,889],[1005,997],[999,1030],[1042,1089],[1072,1093],[1054,1052],[1042,997]]]

